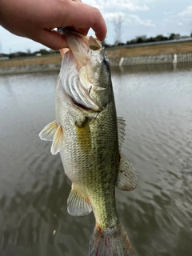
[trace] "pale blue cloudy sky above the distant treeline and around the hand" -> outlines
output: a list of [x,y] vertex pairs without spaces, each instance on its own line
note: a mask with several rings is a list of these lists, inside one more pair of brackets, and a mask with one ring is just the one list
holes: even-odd
[[[192,32],[191,0],[82,0],[97,7],[106,20],[106,43],[114,44],[114,19],[121,17],[122,33],[119,41],[127,42],[137,36],[158,34],[190,35]],[[93,31],[90,34],[94,35]],[[10,34],[0,26],[0,53],[31,52],[48,49],[38,42]]]

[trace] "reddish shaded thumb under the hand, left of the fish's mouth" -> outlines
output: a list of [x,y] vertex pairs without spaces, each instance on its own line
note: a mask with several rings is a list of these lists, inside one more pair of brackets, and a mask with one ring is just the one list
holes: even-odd
[[69,47],[66,43],[66,38],[62,34],[58,34],[55,30],[40,30],[38,36],[32,39],[52,50],[60,50]]

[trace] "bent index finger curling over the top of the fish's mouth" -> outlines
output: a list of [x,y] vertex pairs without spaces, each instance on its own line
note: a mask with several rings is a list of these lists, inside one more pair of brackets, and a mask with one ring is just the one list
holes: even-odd
[[106,22],[100,11],[81,2],[71,2],[71,5],[73,12],[68,18],[69,26],[78,28],[91,27],[96,37],[103,41],[106,38]]

